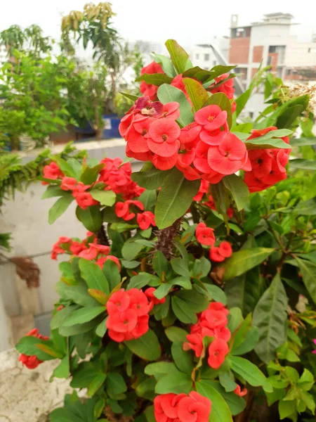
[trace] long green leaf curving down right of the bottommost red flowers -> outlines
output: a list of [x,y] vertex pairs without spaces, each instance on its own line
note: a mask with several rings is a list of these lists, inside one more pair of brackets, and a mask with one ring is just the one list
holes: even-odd
[[228,404],[220,393],[207,381],[199,381],[196,384],[197,392],[211,400],[212,409],[209,422],[232,422],[232,414]]

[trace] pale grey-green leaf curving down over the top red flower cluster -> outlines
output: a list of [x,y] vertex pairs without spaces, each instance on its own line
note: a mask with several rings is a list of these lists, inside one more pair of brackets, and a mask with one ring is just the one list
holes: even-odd
[[171,103],[172,101],[179,103],[180,117],[178,117],[178,122],[181,126],[187,126],[187,124],[193,122],[194,115],[192,113],[192,107],[189,101],[187,101],[185,94],[183,94],[183,91],[172,85],[164,84],[159,87],[157,96],[163,104]]

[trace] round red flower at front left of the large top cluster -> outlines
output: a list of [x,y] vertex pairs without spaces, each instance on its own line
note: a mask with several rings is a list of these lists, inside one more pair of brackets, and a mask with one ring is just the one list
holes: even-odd
[[155,120],[150,125],[148,135],[148,146],[152,153],[169,158],[178,151],[180,127],[173,120]]

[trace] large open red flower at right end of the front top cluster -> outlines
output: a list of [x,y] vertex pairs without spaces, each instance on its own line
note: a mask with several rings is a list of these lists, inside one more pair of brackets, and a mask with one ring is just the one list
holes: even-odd
[[220,174],[233,174],[242,168],[248,158],[246,146],[236,135],[228,133],[218,146],[210,146],[207,162]]

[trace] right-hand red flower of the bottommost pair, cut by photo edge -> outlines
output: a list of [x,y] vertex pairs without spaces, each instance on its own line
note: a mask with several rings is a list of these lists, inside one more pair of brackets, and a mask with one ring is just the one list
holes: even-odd
[[208,422],[210,413],[211,401],[196,391],[179,400],[177,414],[180,422]]

